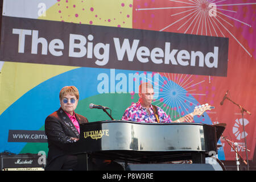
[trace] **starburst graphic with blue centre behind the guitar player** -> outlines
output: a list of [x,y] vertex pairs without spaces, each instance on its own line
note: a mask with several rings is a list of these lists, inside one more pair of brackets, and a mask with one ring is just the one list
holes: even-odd
[[[196,107],[200,106],[193,96],[206,96],[205,93],[197,93],[196,89],[196,86],[203,84],[205,80],[194,80],[192,75],[158,74],[159,97],[152,104],[161,107],[173,121],[192,113]],[[206,118],[196,117],[195,122],[205,122]]]

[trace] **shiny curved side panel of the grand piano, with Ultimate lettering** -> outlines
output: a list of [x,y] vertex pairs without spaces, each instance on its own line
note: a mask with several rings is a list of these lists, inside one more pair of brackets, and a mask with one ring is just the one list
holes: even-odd
[[100,147],[88,147],[89,151],[207,151],[216,150],[210,143],[217,142],[222,127],[202,123],[98,121],[81,124],[80,131],[79,143],[100,143]]

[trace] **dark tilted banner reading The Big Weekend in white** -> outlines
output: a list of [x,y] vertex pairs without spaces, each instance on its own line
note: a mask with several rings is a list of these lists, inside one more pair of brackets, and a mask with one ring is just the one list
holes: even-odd
[[227,38],[9,16],[3,16],[2,24],[5,43],[0,59],[5,61],[193,75],[227,73]]

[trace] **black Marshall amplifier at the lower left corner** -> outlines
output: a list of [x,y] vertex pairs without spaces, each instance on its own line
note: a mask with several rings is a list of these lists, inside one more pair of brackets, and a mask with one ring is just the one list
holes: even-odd
[[0,155],[1,171],[10,170],[42,170],[44,164],[40,164],[38,154]]

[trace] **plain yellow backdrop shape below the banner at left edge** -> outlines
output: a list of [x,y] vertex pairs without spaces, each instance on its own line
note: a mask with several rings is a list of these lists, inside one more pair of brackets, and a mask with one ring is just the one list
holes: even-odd
[[[0,114],[23,94],[43,81],[75,68],[79,67],[5,61],[0,73]],[[46,90],[46,92],[49,91]],[[58,94],[56,93],[56,97]]]

